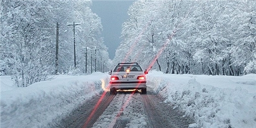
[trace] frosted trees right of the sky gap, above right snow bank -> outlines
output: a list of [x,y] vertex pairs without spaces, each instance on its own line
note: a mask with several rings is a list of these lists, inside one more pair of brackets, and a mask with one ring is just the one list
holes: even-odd
[[256,73],[256,0],[136,0],[113,63],[164,73]]

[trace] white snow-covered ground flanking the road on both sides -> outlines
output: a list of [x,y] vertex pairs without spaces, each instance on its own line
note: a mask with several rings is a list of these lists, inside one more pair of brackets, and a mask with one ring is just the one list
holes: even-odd
[[[103,91],[109,79],[108,74],[100,72],[55,77],[17,88],[9,76],[0,76],[0,128],[46,127]],[[151,71],[147,80],[166,102],[195,118],[191,128],[256,128],[256,74],[208,76]]]

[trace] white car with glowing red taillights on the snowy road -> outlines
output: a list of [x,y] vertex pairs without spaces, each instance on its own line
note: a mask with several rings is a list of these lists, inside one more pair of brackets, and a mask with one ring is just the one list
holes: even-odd
[[136,89],[142,94],[147,93],[147,80],[145,74],[148,71],[143,71],[142,67],[137,63],[118,63],[113,71],[109,74],[110,94],[116,94],[117,90]]

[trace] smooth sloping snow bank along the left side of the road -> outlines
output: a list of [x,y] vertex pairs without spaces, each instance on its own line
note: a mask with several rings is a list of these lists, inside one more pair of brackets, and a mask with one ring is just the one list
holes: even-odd
[[[52,81],[35,83],[26,88],[7,87],[1,77],[0,127],[42,128],[99,94],[100,79],[109,75],[100,72],[86,76],[58,75]],[[48,124],[51,125],[51,124]]]

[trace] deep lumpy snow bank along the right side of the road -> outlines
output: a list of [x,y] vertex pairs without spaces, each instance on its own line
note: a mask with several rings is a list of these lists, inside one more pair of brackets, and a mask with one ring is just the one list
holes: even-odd
[[176,75],[152,71],[148,85],[194,117],[190,128],[256,128],[256,74]]

